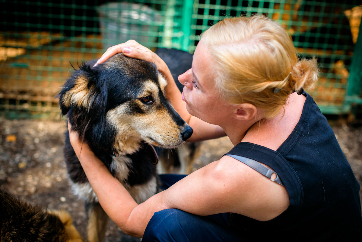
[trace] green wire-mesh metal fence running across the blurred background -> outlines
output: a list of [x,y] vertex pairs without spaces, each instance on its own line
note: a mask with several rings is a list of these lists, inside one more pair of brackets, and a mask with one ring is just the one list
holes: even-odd
[[[264,14],[286,26],[300,57],[318,58],[310,94],[325,114],[361,104],[362,7],[327,0],[0,0],[0,115],[59,118],[55,95],[70,63],[96,59],[136,39],[192,53],[198,36],[224,17]],[[362,36],[362,35],[361,35]]]

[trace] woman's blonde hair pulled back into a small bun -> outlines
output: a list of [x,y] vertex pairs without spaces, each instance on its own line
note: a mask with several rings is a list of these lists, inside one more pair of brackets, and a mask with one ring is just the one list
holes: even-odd
[[290,93],[312,88],[318,79],[316,59],[298,61],[286,29],[265,16],[225,18],[201,41],[223,98],[263,108],[266,118],[279,113]]

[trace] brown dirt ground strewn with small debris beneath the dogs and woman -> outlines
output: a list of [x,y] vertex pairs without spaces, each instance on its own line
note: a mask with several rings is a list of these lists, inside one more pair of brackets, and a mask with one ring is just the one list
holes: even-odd
[[[331,126],[355,176],[362,184],[362,123],[347,125],[332,119]],[[0,117],[0,189],[48,209],[69,212],[85,237],[84,202],[73,195],[63,160],[65,121],[5,120]],[[232,147],[227,138],[202,142],[194,169],[214,161]],[[362,198],[362,192],[360,192]],[[106,241],[139,241],[125,236],[109,222]]]

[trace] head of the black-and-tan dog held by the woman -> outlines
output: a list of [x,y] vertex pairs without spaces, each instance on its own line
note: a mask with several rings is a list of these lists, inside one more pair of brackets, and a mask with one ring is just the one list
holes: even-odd
[[59,93],[62,114],[90,146],[128,154],[141,140],[175,147],[191,136],[154,64],[123,54],[94,63],[81,64]]

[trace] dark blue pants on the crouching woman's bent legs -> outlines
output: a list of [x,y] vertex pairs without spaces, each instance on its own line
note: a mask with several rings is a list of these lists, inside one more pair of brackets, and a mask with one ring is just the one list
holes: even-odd
[[[164,188],[170,187],[185,176],[160,175]],[[153,214],[143,235],[143,242],[214,242],[242,241],[232,230],[226,213],[197,216],[179,209],[165,209]]]

